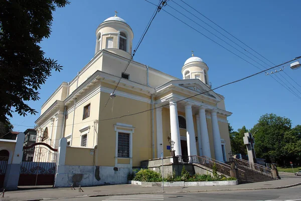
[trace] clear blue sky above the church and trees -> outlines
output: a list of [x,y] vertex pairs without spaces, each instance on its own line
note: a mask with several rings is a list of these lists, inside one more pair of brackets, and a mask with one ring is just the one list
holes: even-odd
[[[183,5],[180,0],[175,1]],[[151,2],[158,4],[157,0],[151,0]],[[301,55],[301,1],[187,0],[186,2],[275,64]],[[174,2],[169,1],[168,4],[180,10]],[[29,102],[29,105],[40,112],[42,104],[60,83],[72,80],[77,72],[93,58],[96,41],[95,30],[105,19],[113,16],[115,10],[117,10],[118,16],[131,26],[134,32],[133,47],[135,47],[154,9],[154,6],[142,0],[73,0],[66,8],[58,8],[54,13],[52,34],[49,39],[45,39],[41,43],[41,46],[46,52],[46,56],[58,60],[64,69],[61,72],[53,72],[52,76],[42,85],[41,99],[37,102]],[[253,62],[170,7],[164,9],[246,60]],[[190,14],[187,15],[191,17]],[[202,16],[199,17],[206,21]],[[208,27],[202,22],[198,22],[202,26]],[[224,37],[222,38],[224,39]],[[194,50],[195,56],[201,57],[209,66],[209,80],[213,87],[258,71],[254,66],[165,12],[160,12],[155,18],[134,60],[182,78],[181,68],[185,60],[191,56],[191,50]],[[259,66],[255,62],[253,63]],[[301,69],[293,71],[286,67],[285,72],[301,85],[299,78]],[[283,72],[280,73],[288,81],[291,81]],[[277,73],[278,76],[280,73]],[[285,79],[283,81],[287,83]],[[301,91],[301,87],[292,81],[291,83]],[[291,85],[289,87],[292,88]],[[225,96],[226,110],[233,113],[228,121],[235,130],[244,125],[248,129],[252,128],[259,117],[266,113],[285,116],[291,119],[293,126],[300,124],[301,100],[270,76],[260,74],[220,88],[216,92]],[[299,95],[301,96],[300,93]],[[15,126],[14,130],[22,132],[27,128],[33,128],[39,115],[28,115],[24,118],[14,113],[14,117],[11,119],[11,123]],[[17,124],[28,127],[16,126]]]

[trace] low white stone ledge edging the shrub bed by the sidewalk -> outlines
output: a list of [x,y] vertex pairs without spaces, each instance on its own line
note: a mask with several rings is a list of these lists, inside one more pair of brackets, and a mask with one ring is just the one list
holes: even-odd
[[[128,181],[129,184],[141,186],[162,186],[162,182],[142,182]],[[220,185],[238,185],[237,180],[233,181],[170,181],[164,182],[164,186],[220,186]]]

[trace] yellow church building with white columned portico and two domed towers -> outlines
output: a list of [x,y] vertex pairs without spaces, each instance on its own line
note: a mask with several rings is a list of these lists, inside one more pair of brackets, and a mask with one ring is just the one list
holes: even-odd
[[67,139],[62,185],[72,180],[70,172],[88,176],[96,169],[100,180],[91,176],[87,185],[126,182],[140,161],[162,152],[171,156],[172,150],[228,160],[232,113],[224,96],[211,91],[207,64],[193,55],[182,67],[182,79],[136,61],[123,73],[132,39],[123,19],[106,19],[96,29],[94,57],[41,107],[38,135],[56,148]]

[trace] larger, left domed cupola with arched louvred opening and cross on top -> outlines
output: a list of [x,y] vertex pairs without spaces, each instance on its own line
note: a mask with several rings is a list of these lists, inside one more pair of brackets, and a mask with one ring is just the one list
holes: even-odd
[[115,11],[115,16],[104,20],[96,29],[95,55],[105,49],[129,59],[133,38],[134,34],[130,26],[118,17]]

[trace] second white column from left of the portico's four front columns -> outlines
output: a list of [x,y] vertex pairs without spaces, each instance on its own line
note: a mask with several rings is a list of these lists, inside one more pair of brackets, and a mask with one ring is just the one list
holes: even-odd
[[186,136],[187,136],[187,148],[188,155],[195,156],[198,155],[197,145],[196,145],[196,134],[194,131],[192,108],[191,104],[187,103],[185,105],[185,116],[186,116]]

